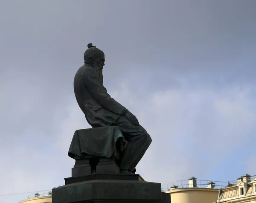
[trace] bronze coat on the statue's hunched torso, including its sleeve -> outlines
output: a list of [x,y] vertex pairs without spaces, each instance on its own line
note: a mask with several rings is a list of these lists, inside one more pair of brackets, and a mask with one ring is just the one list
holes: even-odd
[[93,128],[115,124],[126,110],[107,93],[96,70],[86,64],[75,75],[74,92],[79,107]]

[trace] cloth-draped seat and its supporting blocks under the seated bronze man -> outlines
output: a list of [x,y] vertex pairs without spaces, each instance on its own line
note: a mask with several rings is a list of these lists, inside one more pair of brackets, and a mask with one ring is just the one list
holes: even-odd
[[126,144],[116,126],[76,130],[68,151],[68,156],[76,160],[72,177],[119,173]]

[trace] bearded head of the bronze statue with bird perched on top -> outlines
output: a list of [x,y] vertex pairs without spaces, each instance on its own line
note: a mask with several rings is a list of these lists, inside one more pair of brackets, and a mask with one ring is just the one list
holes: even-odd
[[88,49],[84,52],[84,64],[90,64],[93,68],[102,69],[105,65],[105,54],[102,50],[88,44]]

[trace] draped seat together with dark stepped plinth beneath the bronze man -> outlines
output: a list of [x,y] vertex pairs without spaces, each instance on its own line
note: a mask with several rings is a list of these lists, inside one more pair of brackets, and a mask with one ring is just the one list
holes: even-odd
[[170,203],[160,183],[119,173],[126,144],[116,126],[77,130],[68,152],[76,160],[72,177],[52,189],[52,203]]

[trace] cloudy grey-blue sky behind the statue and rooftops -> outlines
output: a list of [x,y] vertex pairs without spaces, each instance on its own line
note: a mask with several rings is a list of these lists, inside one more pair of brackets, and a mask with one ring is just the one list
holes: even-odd
[[88,43],[152,143],[146,181],[256,175],[255,0],[0,0],[0,202],[64,185]]

